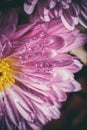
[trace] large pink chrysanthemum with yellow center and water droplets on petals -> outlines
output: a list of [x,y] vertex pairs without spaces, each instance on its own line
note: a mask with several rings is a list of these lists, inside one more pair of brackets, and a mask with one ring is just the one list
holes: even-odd
[[67,93],[81,89],[74,73],[82,64],[67,52],[86,41],[60,19],[0,27],[0,130],[39,130],[60,117]]

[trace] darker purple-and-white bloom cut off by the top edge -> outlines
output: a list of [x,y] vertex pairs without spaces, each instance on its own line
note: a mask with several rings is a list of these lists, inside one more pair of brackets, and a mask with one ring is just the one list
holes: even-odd
[[78,0],[27,0],[24,10],[34,17],[39,16],[41,20],[48,22],[51,19],[61,18],[63,24],[70,30],[80,23],[87,28],[87,2]]

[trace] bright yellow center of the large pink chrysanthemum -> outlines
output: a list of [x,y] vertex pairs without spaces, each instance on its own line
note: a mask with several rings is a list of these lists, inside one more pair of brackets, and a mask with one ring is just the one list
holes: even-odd
[[9,88],[14,83],[15,79],[13,78],[13,69],[10,62],[6,58],[0,59],[0,91]]

